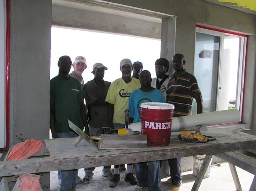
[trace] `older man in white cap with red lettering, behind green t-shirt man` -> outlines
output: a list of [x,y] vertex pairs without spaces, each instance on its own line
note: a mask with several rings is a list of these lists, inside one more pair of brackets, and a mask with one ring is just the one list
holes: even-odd
[[85,57],[78,56],[75,57],[74,63],[72,64],[74,71],[69,74],[69,76],[78,79],[82,85],[84,85],[84,80],[82,77],[82,73],[85,69],[87,69],[86,59]]

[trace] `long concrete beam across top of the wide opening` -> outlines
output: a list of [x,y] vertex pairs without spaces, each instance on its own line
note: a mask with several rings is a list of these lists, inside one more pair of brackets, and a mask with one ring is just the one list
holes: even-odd
[[159,22],[128,18],[109,13],[53,5],[52,24],[88,30],[161,38]]

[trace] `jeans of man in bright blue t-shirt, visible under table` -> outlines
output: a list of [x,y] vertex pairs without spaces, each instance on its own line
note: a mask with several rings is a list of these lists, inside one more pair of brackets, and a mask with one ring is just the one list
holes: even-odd
[[138,186],[148,187],[148,191],[162,191],[159,160],[135,163]]

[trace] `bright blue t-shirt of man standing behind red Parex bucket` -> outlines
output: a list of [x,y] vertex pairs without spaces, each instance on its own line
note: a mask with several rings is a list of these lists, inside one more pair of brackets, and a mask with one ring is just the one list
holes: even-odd
[[144,102],[161,102],[165,103],[165,98],[162,92],[158,89],[153,89],[152,91],[145,92],[141,89],[136,89],[132,92],[128,109],[130,110],[129,116],[134,118],[133,122],[141,122],[141,103]]

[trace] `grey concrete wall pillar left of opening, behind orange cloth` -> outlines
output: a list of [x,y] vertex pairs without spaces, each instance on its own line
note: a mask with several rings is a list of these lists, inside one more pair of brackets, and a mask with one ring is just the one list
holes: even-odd
[[[51,0],[11,0],[11,145],[49,137],[51,13]],[[49,173],[41,181],[49,190]]]

